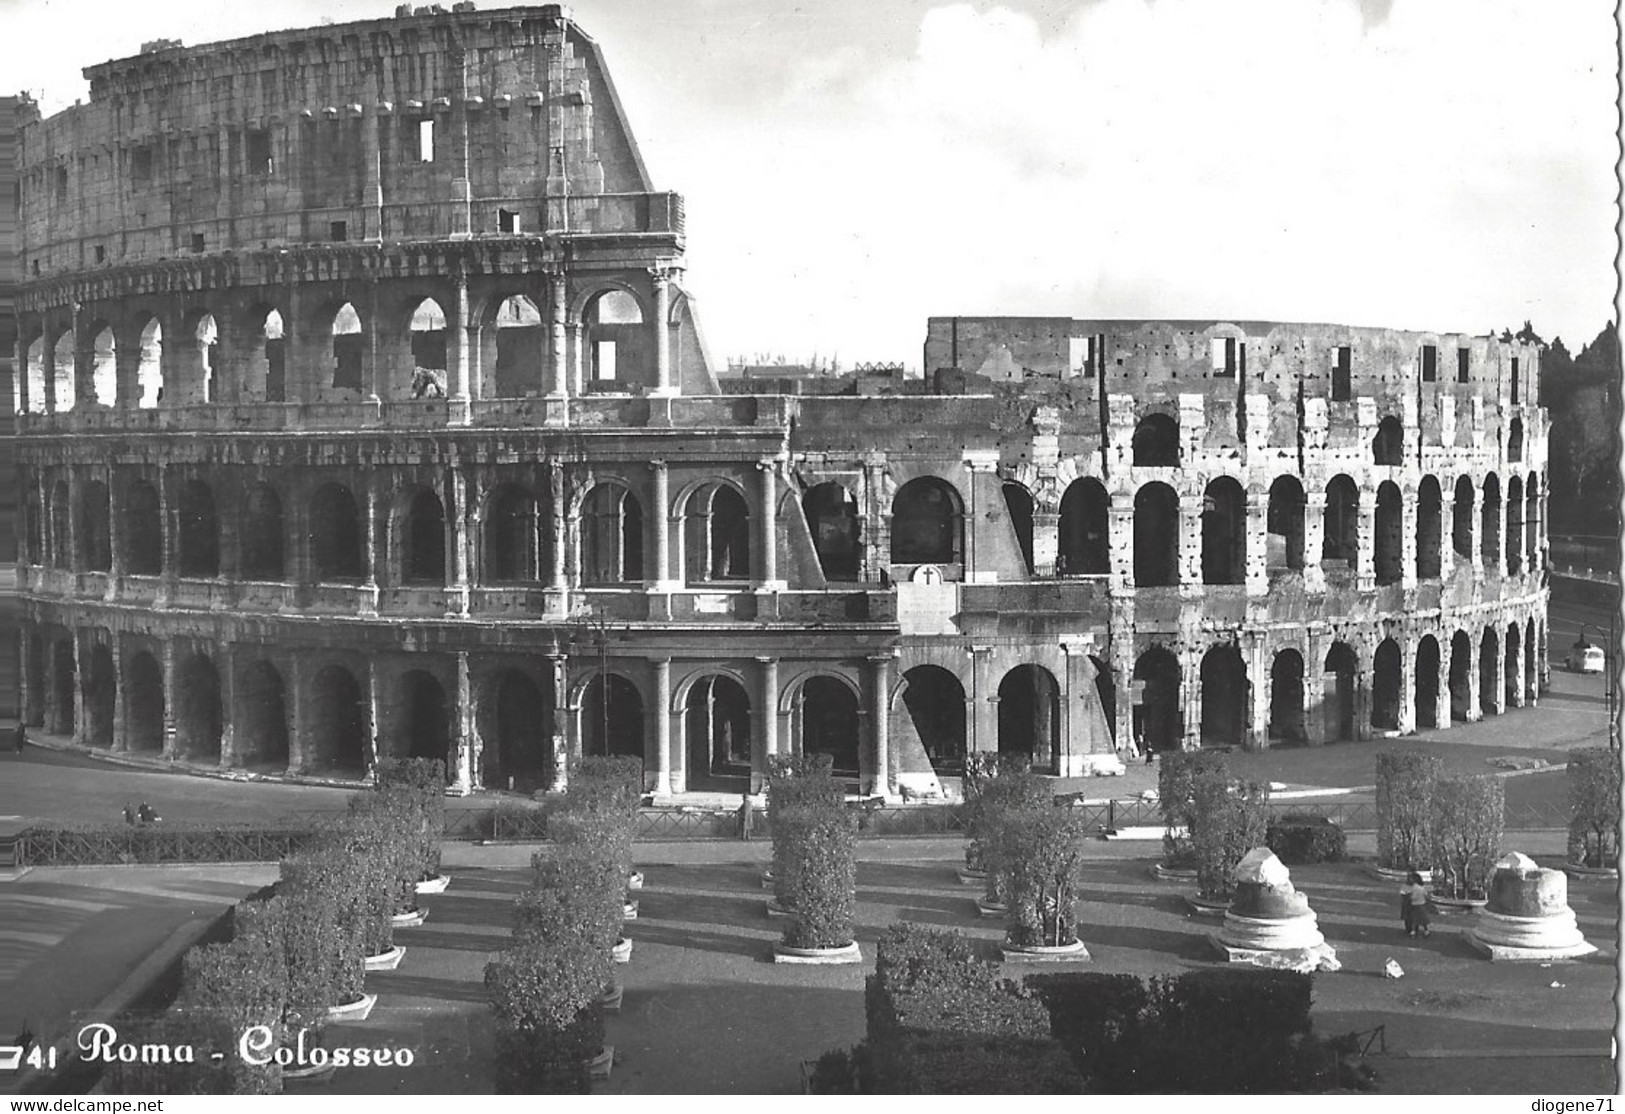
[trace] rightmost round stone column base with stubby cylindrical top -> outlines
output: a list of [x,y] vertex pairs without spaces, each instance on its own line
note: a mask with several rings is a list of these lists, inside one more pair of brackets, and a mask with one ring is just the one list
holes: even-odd
[[1474,914],[1467,943],[1495,961],[1575,960],[1597,950],[1568,908],[1568,875],[1516,851],[1495,864],[1490,900]]

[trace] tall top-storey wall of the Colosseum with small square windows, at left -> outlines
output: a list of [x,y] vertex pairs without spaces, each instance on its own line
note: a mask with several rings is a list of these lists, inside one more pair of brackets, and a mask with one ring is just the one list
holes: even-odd
[[88,104],[23,117],[28,279],[338,239],[681,234],[598,45],[557,5],[169,47],[84,75]]

